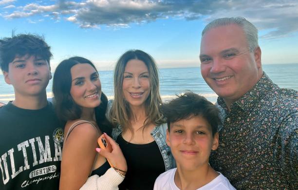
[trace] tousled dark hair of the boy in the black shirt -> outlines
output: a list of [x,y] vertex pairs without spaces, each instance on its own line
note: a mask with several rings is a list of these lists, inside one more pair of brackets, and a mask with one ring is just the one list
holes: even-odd
[[1,70],[8,72],[8,64],[17,56],[23,57],[26,54],[39,56],[50,65],[50,59],[53,57],[50,49],[44,38],[37,34],[13,34],[11,38],[0,39]]

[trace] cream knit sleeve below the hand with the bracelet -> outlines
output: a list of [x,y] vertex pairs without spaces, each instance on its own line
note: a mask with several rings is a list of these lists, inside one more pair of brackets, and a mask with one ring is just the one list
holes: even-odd
[[102,176],[93,175],[88,177],[86,183],[80,190],[118,190],[118,185],[123,181],[113,168],[110,168]]

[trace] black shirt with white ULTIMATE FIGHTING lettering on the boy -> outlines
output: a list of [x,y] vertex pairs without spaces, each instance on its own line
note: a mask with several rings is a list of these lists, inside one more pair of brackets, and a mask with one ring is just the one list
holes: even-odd
[[0,190],[58,190],[64,123],[52,103],[0,108]]

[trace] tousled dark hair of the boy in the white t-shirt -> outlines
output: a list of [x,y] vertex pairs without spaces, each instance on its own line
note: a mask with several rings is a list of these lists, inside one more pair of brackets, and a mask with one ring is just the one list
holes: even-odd
[[210,124],[212,135],[217,132],[221,120],[219,110],[214,104],[205,97],[190,91],[177,96],[177,98],[163,104],[161,107],[161,111],[168,121],[168,131],[170,131],[170,123],[172,122],[187,119],[191,116],[202,116]]

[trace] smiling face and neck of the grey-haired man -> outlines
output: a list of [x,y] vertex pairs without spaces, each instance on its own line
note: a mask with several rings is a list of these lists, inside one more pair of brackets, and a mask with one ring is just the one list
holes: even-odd
[[235,24],[210,29],[201,41],[201,73],[228,107],[261,78],[261,49],[248,50],[242,28]]

